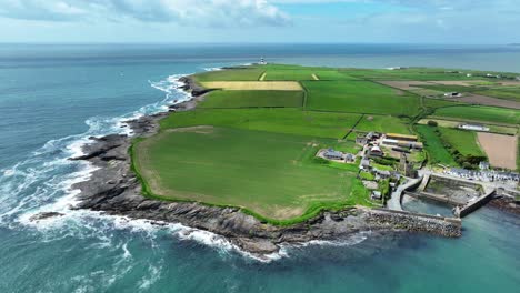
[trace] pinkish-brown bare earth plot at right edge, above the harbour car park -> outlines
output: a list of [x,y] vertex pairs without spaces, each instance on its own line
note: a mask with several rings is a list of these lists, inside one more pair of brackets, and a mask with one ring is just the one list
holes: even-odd
[[492,166],[517,169],[518,137],[479,132],[478,139]]

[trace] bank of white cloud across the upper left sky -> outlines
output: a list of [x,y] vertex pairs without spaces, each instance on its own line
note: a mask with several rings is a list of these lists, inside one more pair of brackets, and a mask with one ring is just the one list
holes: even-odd
[[266,0],[3,0],[0,16],[78,21],[134,19],[189,26],[284,26],[289,17]]

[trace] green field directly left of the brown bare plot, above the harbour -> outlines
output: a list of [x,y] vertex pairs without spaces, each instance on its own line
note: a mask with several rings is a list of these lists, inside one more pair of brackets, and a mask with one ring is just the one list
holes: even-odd
[[477,132],[439,128],[441,138],[463,155],[486,156],[477,143]]

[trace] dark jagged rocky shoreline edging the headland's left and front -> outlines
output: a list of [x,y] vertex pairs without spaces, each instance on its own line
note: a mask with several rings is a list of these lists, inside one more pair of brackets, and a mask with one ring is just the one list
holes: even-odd
[[[182,78],[181,89],[191,92],[191,100],[170,107],[170,112],[189,111],[203,99],[208,90],[190,78]],[[427,216],[383,209],[350,208],[337,212],[321,212],[302,223],[278,226],[262,223],[237,208],[209,206],[196,202],[168,202],[144,198],[141,184],[131,170],[129,148],[133,138],[157,133],[158,121],[170,112],[128,121],[132,137],[111,134],[90,138],[83,146],[84,155],[71,160],[88,161],[97,168],[90,180],[74,184],[81,192],[73,209],[89,209],[131,219],[160,223],[181,223],[226,236],[232,244],[258,256],[278,252],[281,244],[312,240],[338,240],[362,231],[412,231],[460,236],[461,222],[440,216]],[[46,214],[34,220],[58,214]]]

